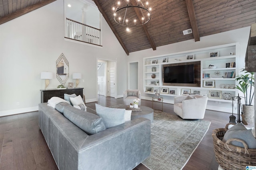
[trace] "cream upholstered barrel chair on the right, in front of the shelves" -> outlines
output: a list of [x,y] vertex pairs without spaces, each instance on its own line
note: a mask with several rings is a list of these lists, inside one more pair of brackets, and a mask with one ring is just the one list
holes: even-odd
[[174,113],[182,119],[204,119],[208,97],[198,94],[174,98]]

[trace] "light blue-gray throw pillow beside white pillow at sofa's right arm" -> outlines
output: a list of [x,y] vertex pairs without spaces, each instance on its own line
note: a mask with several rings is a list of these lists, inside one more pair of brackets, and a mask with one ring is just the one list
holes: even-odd
[[106,128],[114,127],[124,123],[125,109],[116,109],[95,104],[97,114],[102,117]]

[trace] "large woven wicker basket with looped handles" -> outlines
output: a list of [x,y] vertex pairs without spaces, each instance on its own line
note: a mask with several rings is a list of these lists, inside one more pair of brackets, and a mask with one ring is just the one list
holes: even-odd
[[[239,139],[230,139],[222,142],[227,131],[225,128],[214,129],[212,132],[214,153],[218,164],[224,170],[245,170],[246,166],[256,166],[256,149],[247,149],[247,145]],[[240,141],[245,148],[229,145],[231,141]]]

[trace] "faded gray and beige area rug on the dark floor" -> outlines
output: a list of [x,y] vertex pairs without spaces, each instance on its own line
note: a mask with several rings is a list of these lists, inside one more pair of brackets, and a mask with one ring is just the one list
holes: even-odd
[[154,112],[151,154],[142,162],[150,170],[180,170],[210,127],[203,120],[184,120],[170,113]]

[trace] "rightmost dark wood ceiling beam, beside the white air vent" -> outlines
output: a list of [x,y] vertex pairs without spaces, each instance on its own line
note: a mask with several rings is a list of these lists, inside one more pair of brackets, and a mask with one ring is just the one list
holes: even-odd
[[196,14],[195,14],[193,2],[192,2],[192,0],[186,0],[186,4],[187,4],[187,8],[188,8],[188,16],[190,19],[194,39],[195,39],[195,41],[200,41],[200,36],[199,36],[199,32],[198,32],[198,26],[196,23]]

